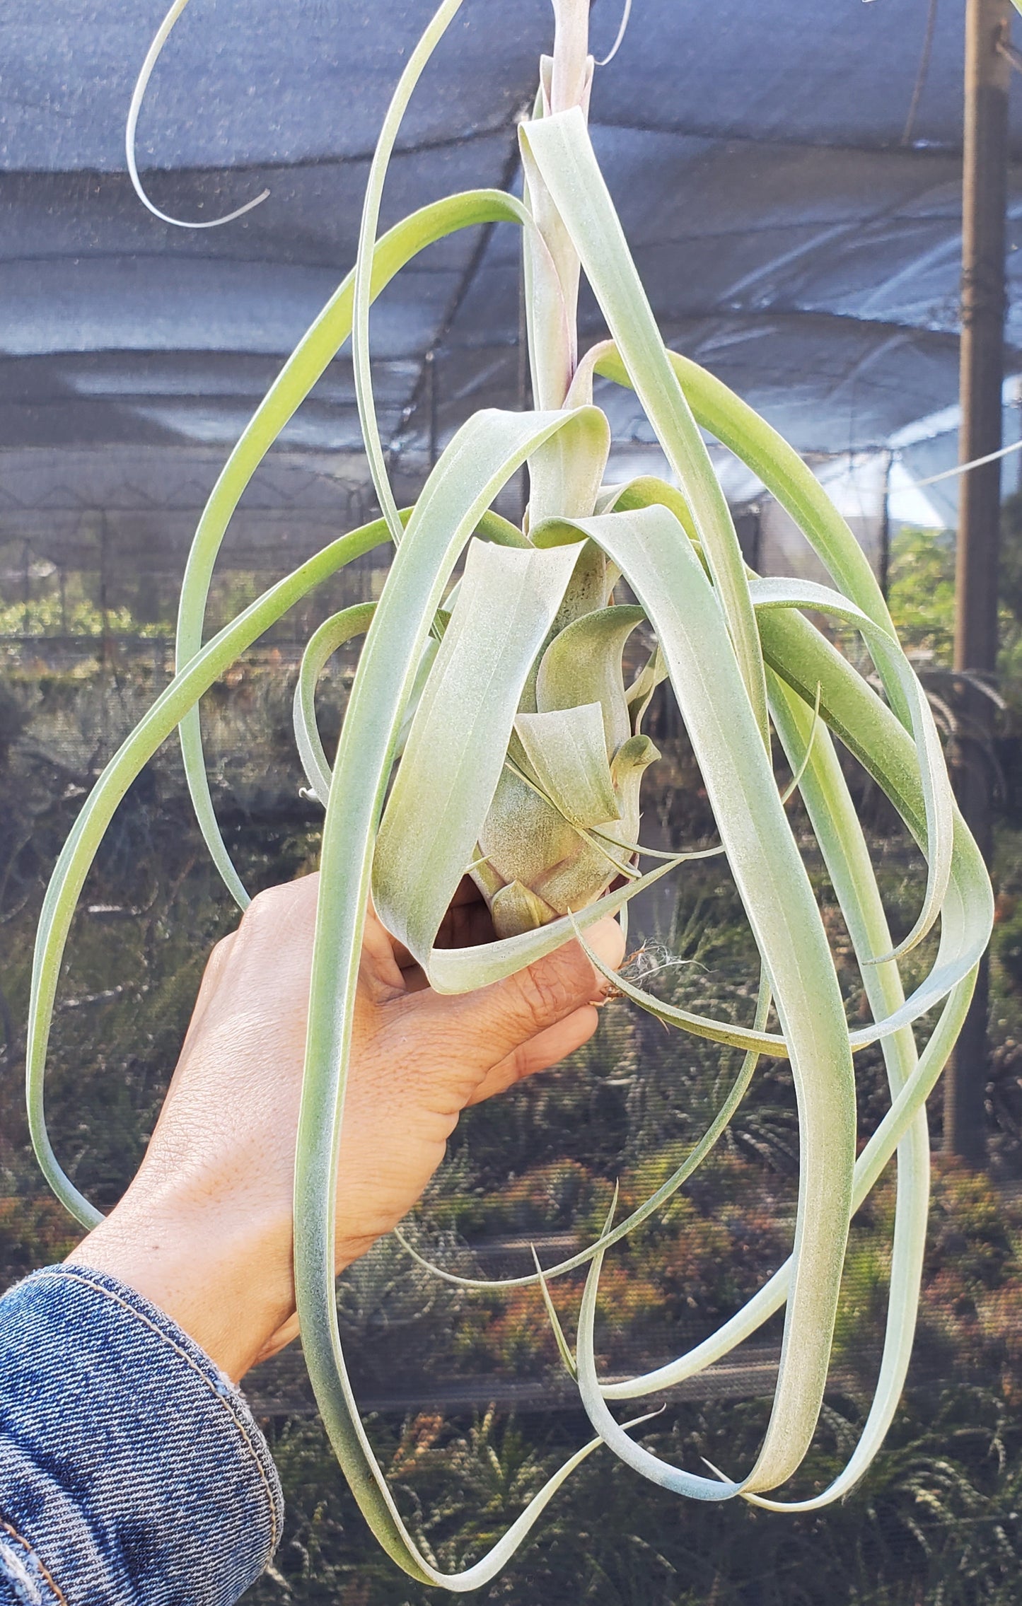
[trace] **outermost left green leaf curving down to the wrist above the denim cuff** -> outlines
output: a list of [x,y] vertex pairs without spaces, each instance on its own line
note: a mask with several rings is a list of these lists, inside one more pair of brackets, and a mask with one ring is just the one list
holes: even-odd
[[183,670],[178,670],[166,691],[161,692],[103,769],[103,774],[82,805],[71,835],[53,867],[39,915],[35,951],[32,956],[26,1099],[29,1132],[40,1169],[61,1204],[84,1227],[95,1227],[103,1216],[76,1188],[53,1153],[47,1132],[45,1070],[61,959],[92,861],[121,800],[135,777],[161,744],[174,732],[174,728],[180,724],[185,713],[194,708],[199,697],[209,691],[217,676],[223,675],[239,654],[251,647],[254,641],[270,630],[313,586],[321,585],[323,580],[334,575],[344,564],[350,564],[365,552],[371,552],[374,546],[381,546],[386,540],[387,525],[382,519],[374,519],[373,524],[363,525],[360,530],[352,530],[350,535],[344,535],[337,541],[331,541],[329,546],[317,552],[315,557],[310,557],[294,573],[286,575],[284,580],[264,591],[238,618],[225,625]]

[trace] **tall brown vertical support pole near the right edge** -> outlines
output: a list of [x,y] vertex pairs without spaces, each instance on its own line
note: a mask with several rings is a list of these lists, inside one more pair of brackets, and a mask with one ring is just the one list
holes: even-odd
[[[1008,37],[1009,0],[967,0],[966,112],[963,151],[961,429],[959,463],[1001,445],[1004,345],[1004,210],[1008,196],[1008,77],[1000,48]],[[955,668],[991,675],[998,652],[998,551],[1001,464],[983,464],[959,480]],[[955,787],[963,814],[990,862],[993,848],[991,703],[961,683],[963,734]],[[945,1084],[945,1152],[969,1166],[987,1158],[985,1086],[987,962]]]

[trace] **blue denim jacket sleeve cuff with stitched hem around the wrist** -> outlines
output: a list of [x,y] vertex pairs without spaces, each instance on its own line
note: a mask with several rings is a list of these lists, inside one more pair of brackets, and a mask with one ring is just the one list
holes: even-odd
[[84,1266],[0,1299],[2,1606],[230,1606],[281,1519],[244,1399],[162,1310]]

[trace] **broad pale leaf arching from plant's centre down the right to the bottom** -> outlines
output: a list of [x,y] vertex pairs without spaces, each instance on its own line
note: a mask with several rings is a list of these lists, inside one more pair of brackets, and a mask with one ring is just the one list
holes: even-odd
[[[578,528],[617,564],[656,630],[770,978],[795,1081],[802,1156],[795,1275],[775,1407],[746,1484],[768,1489],[791,1476],[805,1455],[826,1383],[855,1161],[848,1026],[770,756],[713,588],[688,536],[665,507],[582,519]],[[578,1368],[582,1378],[582,1349]],[[593,1426],[601,1431],[596,1418]]]

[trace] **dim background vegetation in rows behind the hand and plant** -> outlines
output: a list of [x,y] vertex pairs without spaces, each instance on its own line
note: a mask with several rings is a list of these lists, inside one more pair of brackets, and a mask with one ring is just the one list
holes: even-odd
[[[220,607],[247,599],[235,575]],[[362,586],[363,581],[358,581]],[[362,589],[358,591],[362,596]],[[988,1086],[990,1171],[940,1166],[922,1319],[910,1389],[865,1487],[821,1516],[744,1506],[704,1510],[641,1484],[596,1453],[556,1502],[532,1547],[487,1601],[598,1606],[972,1606],[1016,1601],[1022,1564],[1022,504],[1006,509],[1001,612],[1004,702],[998,763],[998,927]],[[329,605],[355,597],[331,596]],[[898,535],[890,601],[906,644],[946,707],[953,546]],[[0,1285],[58,1259],[74,1229],[43,1193],[21,1116],[22,1023],[45,880],[80,800],[119,734],[164,683],[169,596],[125,586],[96,596],[90,577],[31,575],[0,593]],[[212,774],[228,842],[251,887],[315,864],[317,814],[292,753],[289,633],[236,665],[206,700]],[[321,599],[321,605],[326,602]],[[74,641],[72,641],[74,638]],[[350,662],[323,689],[341,716]],[[685,736],[656,715],[664,752],[646,824],[664,840],[712,840]],[[908,928],[919,864],[855,777],[895,930]],[[797,806],[797,805],[792,805]],[[836,951],[848,944],[811,840],[805,851]],[[101,1206],[132,1174],[174,1066],[198,976],[233,907],[190,822],[180,764],[159,755],[125,800],[88,882],[58,1007],[50,1076],[55,1140]],[[675,880],[670,906],[644,914],[644,984],[746,1018],[755,964],[734,888],[718,861]],[[914,957],[914,956],[913,956]],[[922,964],[926,954],[919,956]],[[865,1012],[844,976],[848,1009]],[[884,1107],[879,1055],[858,1058],[863,1132]],[[704,1129],[736,1060],[667,1034],[619,1001],[570,1062],[500,1103],[471,1111],[410,1232],[419,1249],[471,1275],[550,1262],[598,1230],[615,1180],[644,1196]],[[940,1100],[932,1108],[940,1137]],[[599,1346],[607,1372],[646,1368],[697,1341],[784,1257],[797,1176],[787,1074],[766,1063],[713,1160],[607,1262]],[[821,1487],[861,1423],[882,1338],[890,1187],[855,1224],[834,1360],[815,1450],[792,1494]],[[578,1282],[554,1285],[570,1335]],[[545,1473],[588,1436],[535,1290],[466,1293],[379,1245],[339,1285],[341,1319],[373,1431],[403,1510],[439,1563],[477,1555]],[[726,1378],[665,1400],[646,1436],[660,1453],[738,1469],[762,1433],[776,1323]],[[400,1378],[400,1389],[394,1378]],[[259,1606],[294,1601],[403,1606],[427,1598],[368,1540],[289,1355],[251,1378],[281,1468],[288,1529]],[[493,1407],[490,1405],[493,1402]]]

